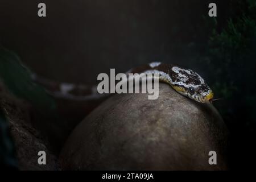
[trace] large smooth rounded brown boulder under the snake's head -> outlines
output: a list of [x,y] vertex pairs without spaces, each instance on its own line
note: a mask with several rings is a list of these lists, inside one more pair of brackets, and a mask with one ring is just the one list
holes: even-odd
[[[69,136],[62,169],[220,170],[226,167],[227,131],[207,105],[159,85],[159,98],[115,94]],[[209,165],[216,151],[217,165]]]

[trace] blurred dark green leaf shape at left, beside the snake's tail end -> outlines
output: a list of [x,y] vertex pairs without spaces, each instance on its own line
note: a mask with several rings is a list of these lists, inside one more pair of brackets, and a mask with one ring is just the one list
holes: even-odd
[[0,77],[7,88],[19,98],[30,101],[39,111],[51,113],[55,101],[46,90],[32,81],[31,72],[12,51],[0,47]]

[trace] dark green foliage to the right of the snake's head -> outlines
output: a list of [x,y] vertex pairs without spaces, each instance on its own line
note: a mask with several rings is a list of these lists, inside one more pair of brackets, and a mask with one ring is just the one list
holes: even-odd
[[214,28],[209,39],[207,61],[210,85],[216,97],[224,101],[216,102],[225,120],[232,125],[255,129],[256,113],[256,1],[237,1],[231,7],[235,12],[224,27]]

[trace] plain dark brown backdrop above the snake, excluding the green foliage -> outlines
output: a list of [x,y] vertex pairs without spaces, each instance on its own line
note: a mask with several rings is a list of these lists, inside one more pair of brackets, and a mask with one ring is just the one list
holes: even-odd
[[[3,46],[59,81],[95,84],[110,68],[125,72],[155,60],[191,66],[208,39],[202,17],[210,1],[0,2]],[[46,18],[38,17],[39,2]],[[226,4],[218,3],[218,16],[226,16]]]

